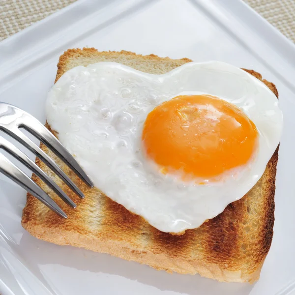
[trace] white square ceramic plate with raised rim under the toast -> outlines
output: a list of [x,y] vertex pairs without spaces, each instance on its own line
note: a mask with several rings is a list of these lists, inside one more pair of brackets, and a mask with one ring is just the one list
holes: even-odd
[[30,236],[26,192],[0,178],[0,293],[287,295],[295,289],[295,46],[241,0],[80,0],[0,43],[0,101],[45,122],[44,102],[68,48],[129,50],[255,69],[276,84],[284,112],[274,236],[254,284],[218,283]]

